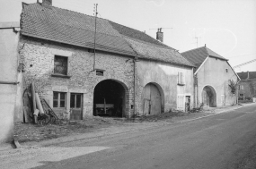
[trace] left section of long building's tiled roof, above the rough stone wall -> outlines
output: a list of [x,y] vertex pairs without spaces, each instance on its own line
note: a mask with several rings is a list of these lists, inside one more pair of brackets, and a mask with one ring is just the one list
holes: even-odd
[[[75,46],[94,46],[94,18],[57,7],[40,4],[24,5],[22,10],[22,35],[43,38]],[[96,47],[105,51],[135,55],[119,32],[106,20],[98,19]]]

